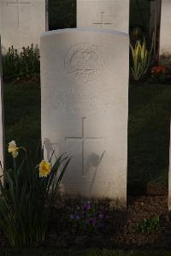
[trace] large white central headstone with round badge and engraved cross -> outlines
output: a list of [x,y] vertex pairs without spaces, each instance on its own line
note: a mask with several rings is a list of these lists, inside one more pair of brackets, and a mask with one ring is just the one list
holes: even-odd
[[66,193],[127,201],[129,38],[101,29],[41,37],[44,157],[73,156]]

